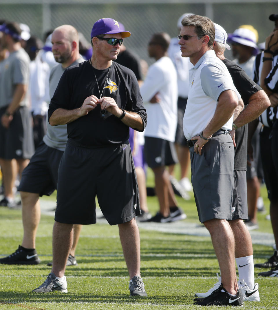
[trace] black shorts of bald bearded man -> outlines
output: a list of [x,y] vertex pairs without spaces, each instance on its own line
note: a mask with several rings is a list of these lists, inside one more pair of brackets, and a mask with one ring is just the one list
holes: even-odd
[[50,196],[57,189],[58,168],[62,155],[62,151],[41,142],[22,172],[18,190]]

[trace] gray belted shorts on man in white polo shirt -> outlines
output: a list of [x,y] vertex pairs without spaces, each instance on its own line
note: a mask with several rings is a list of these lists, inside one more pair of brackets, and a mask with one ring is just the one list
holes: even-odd
[[201,223],[232,219],[234,146],[229,134],[217,135],[202,148],[202,155],[189,148],[191,182]]

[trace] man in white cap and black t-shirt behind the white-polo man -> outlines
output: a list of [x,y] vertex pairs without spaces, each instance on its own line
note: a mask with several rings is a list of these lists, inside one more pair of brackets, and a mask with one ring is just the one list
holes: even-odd
[[[233,61],[225,59],[224,51],[226,47],[229,49],[226,39],[225,30],[215,24],[213,49],[216,56],[226,65],[245,105],[242,112],[238,109],[235,110],[233,130],[230,132],[231,136],[234,137],[235,158],[232,221],[229,221],[229,224],[236,241],[235,257],[239,273],[239,289],[242,290],[244,300],[259,301],[258,284],[254,283],[252,240],[243,222],[243,219],[247,219],[248,212],[246,188],[247,125],[245,124],[257,118],[270,105],[270,102],[262,88],[252,81],[243,69]],[[220,284],[221,281],[219,286]],[[245,294],[247,290],[248,296]]]

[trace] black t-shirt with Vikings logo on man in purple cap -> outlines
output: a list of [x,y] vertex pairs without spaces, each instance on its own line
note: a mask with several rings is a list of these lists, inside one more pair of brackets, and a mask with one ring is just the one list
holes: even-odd
[[[93,69],[89,60],[66,69],[51,99],[48,119],[58,108],[72,110],[80,108],[90,95],[99,98],[99,86],[100,93],[103,89],[102,97],[112,97],[119,108],[138,113],[145,128],[147,113],[134,73],[115,62],[112,62],[109,73],[108,70]],[[83,146],[97,148],[124,143],[129,137],[129,127],[107,111],[102,118],[98,104],[87,115],[68,123],[67,134]]]

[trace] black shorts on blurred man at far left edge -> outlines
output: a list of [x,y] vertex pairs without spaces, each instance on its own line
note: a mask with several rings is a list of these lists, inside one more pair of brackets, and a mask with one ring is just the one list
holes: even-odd
[[[0,109],[0,119],[7,107]],[[32,117],[28,107],[19,107],[8,128],[0,122],[0,158],[30,159],[34,154]]]

